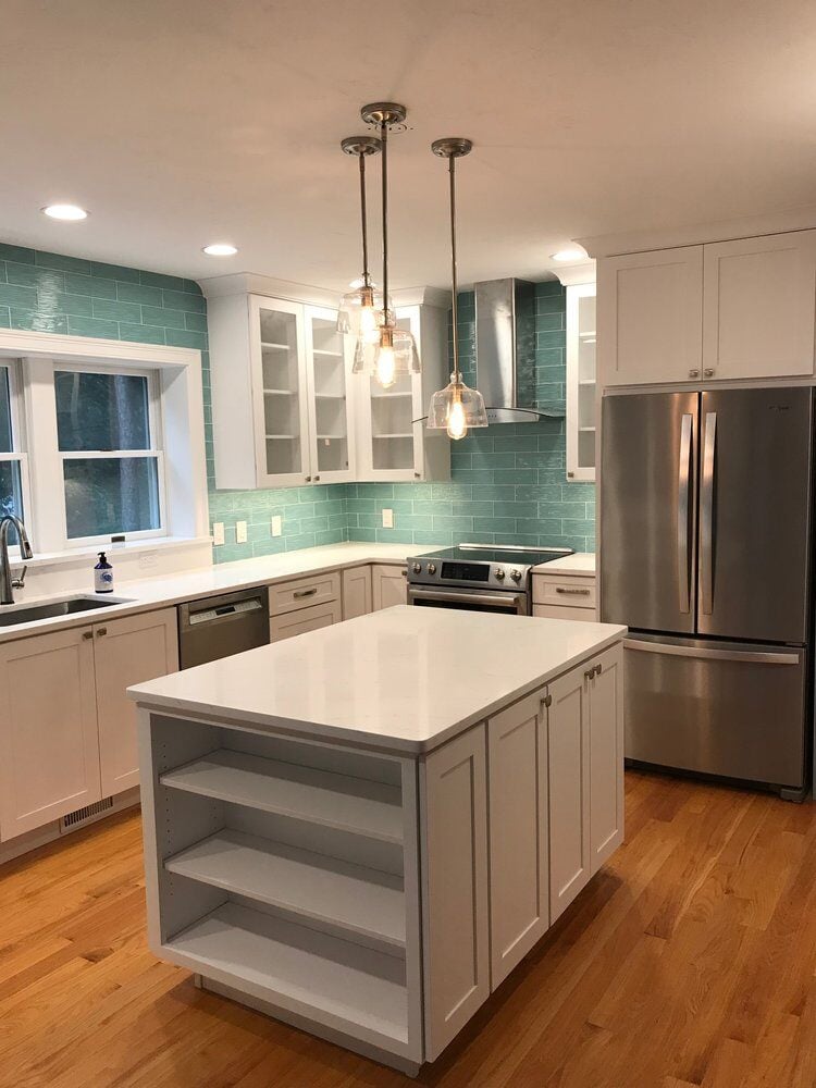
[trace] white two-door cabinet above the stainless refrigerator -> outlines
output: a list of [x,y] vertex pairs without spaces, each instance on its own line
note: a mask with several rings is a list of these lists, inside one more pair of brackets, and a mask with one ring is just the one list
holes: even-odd
[[598,262],[605,385],[814,373],[816,231]]

